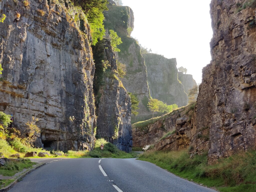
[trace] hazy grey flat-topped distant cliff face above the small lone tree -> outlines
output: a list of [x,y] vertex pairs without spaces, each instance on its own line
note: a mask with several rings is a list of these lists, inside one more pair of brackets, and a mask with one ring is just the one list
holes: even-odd
[[176,103],[179,107],[188,104],[184,86],[178,81],[176,59],[167,59],[162,55],[144,54],[147,66],[148,86],[151,97],[168,105]]

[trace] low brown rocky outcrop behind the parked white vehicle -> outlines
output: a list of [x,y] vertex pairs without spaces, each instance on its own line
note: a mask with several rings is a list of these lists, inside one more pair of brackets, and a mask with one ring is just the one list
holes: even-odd
[[[140,123],[133,124],[133,146],[155,144],[156,150],[178,150],[187,147],[191,139],[191,115],[193,112],[194,108],[188,105],[147,126],[141,127]],[[175,131],[175,133],[160,140],[170,131]]]

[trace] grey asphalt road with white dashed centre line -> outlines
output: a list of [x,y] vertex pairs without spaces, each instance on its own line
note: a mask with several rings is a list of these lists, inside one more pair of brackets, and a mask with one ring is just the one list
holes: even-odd
[[[108,181],[113,180],[113,181]],[[78,158],[48,163],[10,192],[214,192],[136,159]]]

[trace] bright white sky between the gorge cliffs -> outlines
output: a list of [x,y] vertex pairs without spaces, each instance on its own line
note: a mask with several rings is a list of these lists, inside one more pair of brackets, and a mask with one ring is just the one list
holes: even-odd
[[176,58],[197,83],[210,63],[210,0],[122,0],[134,12],[132,37],[152,53]]

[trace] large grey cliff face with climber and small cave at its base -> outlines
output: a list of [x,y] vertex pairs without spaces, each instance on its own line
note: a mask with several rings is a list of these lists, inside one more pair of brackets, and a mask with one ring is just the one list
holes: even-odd
[[56,149],[59,141],[59,150],[91,149],[96,120],[88,24],[81,34],[74,12],[69,15],[70,7],[58,2],[18,3],[16,26],[15,2],[0,2],[6,15],[0,29],[0,110],[13,114],[20,130],[32,116],[39,118],[38,147]]

